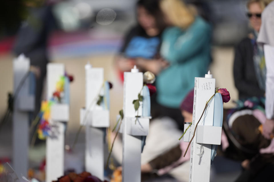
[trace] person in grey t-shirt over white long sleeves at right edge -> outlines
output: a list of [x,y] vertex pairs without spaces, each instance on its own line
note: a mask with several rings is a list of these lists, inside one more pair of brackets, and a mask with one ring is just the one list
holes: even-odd
[[270,138],[274,135],[274,2],[271,2],[262,16],[262,26],[257,42],[264,44],[266,62],[266,101],[265,113],[267,120],[263,125],[263,135]]

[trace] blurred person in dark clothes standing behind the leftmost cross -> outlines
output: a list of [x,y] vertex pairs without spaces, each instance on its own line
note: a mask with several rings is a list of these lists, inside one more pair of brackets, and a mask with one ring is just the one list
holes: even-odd
[[[46,1],[26,1],[28,17],[19,28],[13,52],[16,56],[24,53],[30,58],[31,69],[36,73],[35,111],[33,118],[40,111],[44,79],[49,63],[48,40],[56,26],[52,14],[52,3]],[[33,132],[33,131],[31,131]]]

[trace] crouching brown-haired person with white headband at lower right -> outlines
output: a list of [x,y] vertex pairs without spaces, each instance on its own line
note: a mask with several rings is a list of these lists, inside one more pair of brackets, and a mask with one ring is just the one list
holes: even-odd
[[219,150],[219,155],[242,161],[243,172],[237,182],[269,181],[274,177],[269,173],[274,170],[274,140],[262,135],[264,104],[265,98],[252,97],[237,101],[234,109],[224,109],[223,129],[229,147]]

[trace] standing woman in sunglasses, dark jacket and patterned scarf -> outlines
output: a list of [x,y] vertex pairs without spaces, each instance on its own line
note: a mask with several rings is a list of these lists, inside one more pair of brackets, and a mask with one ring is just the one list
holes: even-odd
[[257,44],[261,27],[261,13],[269,0],[249,0],[247,2],[249,23],[252,32],[235,48],[234,82],[239,99],[265,95],[266,67],[263,46]]

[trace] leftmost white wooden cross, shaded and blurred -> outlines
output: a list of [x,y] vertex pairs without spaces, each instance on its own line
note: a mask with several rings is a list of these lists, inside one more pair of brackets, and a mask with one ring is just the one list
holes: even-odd
[[24,176],[27,176],[29,163],[29,111],[35,109],[29,70],[30,60],[23,54],[13,60],[13,93],[16,94],[13,104],[13,167],[16,173]]

